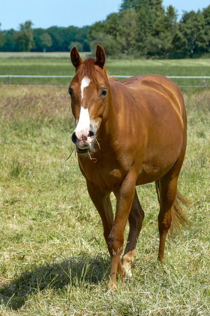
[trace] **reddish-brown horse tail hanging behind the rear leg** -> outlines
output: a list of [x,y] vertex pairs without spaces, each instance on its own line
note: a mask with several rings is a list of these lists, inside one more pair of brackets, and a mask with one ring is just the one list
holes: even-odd
[[[158,181],[155,181],[155,185],[156,185],[156,191],[158,194],[158,201],[160,204],[159,183],[157,182]],[[172,205],[172,208],[171,208],[171,217],[172,217],[171,227],[170,227],[171,235],[174,232],[174,230],[180,232],[182,226],[188,226],[188,227],[191,226],[191,222],[187,218],[187,215],[185,214],[183,209],[181,208],[179,201],[188,207],[192,204],[192,201],[190,201],[189,199],[187,199],[186,197],[184,197],[181,193],[177,191],[174,204]]]

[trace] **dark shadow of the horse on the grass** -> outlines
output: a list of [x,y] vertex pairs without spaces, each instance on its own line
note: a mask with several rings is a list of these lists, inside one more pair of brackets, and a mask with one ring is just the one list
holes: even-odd
[[47,288],[61,289],[65,285],[89,286],[102,281],[109,269],[107,254],[90,257],[86,253],[70,257],[63,262],[35,266],[24,271],[19,278],[0,286],[0,302],[13,310],[21,308],[29,295]]

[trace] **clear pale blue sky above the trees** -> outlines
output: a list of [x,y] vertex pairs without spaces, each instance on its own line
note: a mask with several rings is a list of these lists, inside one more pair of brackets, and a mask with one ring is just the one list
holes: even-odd
[[[103,20],[117,12],[122,0],[0,0],[1,30],[17,29],[19,23],[32,20],[33,27],[83,26]],[[210,5],[210,0],[163,0],[182,11],[198,10]]]

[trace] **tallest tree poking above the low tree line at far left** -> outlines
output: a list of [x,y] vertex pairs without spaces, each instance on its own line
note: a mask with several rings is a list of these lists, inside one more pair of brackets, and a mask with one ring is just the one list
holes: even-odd
[[21,23],[19,29],[20,30],[14,35],[18,49],[22,52],[30,52],[34,45],[32,21]]

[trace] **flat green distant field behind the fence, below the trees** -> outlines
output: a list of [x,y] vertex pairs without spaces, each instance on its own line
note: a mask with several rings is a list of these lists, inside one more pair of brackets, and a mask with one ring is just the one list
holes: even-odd
[[[81,54],[85,58],[88,54]],[[159,73],[178,76],[209,76],[210,59],[178,60],[112,60],[107,59],[106,68],[110,75],[139,75]],[[69,53],[0,53],[0,74],[19,75],[73,75]],[[13,84],[60,84],[68,85],[64,78],[12,78]],[[174,79],[181,86],[202,85],[199,79]],[[0,78],[7,83],[7,78]],[[207,80],[210,86],[210,80]]]

